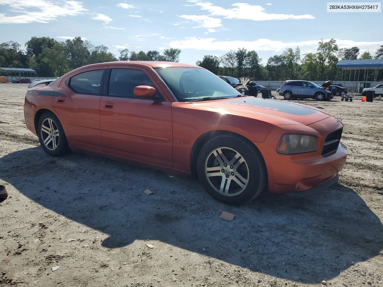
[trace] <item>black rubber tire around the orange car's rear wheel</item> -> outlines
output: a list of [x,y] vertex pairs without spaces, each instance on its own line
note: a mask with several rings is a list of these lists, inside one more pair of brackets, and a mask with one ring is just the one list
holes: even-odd
[[[56,147],[53,146],[53,140],[49,140],[49,134],[47,132],[41,132],[41,128],[43,126],[44,122],[44,127],[47,127],[46,125],[46,120],[51,120],[53,122],[53,130],[58,130],[59,132],[59,137],[57,139],[57,136],[54,136],[53,139],[55,140]],[[52,113],[52,112],[45,112],[41,115],[39,118],[39,122],[37,125],[37,134],[39,137],[40,145],[43,148],[44,152],[46,152],[48,155],[51,155],[52,157],[59,157],[61,155],[64,155],[65,153],[68,152],[69,147],[68,147],[68,142],[67,138],[65,137],[64,129],[61,126],[61,123],[57,116]],[[46,136],[48,135],[48,136]],[[47,139],[47,145],[44,143],[44,139]],[[52,147],[52,149],[51,149]]]

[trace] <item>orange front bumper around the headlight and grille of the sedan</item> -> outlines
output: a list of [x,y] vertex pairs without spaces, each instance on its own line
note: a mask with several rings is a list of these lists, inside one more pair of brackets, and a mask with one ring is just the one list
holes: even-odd
[[[339,143],[336,151],[324,156],[322,156],[322,149],[327,135],[342,127],[343,125],[334,117],[328,117],[308,126],[280,125],[270,132],[264,142],[254,142],[265,160],[269,192],[287,194],[307,191],[333,179],[345,165],[347,148]],[[290,132],[293,129],[296,132]],[[307,130],[311,130],[310,134],[317,137],[316,152],[296,155],[282,155],[276,152],[283,134],[305,134]]]

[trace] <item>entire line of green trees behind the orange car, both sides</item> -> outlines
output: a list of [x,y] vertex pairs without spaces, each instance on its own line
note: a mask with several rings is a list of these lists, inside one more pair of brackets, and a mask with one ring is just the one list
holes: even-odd
[[[0,67],[32,68],[40,77],[60,77],[65,73],[88,64],[125,61],[171,61],[178,62],[180,49],[159,51],[119,50],[119,57],[108,52],[108,47],[94,46],[90,41],[80,37],[66,41],[56,41],[49,37],[32,37],[25,43],[25,50],[17,42],[0,44]],[[196,65],[204,67],[216,75],[248,77],[252,80],[340,80],[342,71],[336,69],[339,60],[383,59],[383,45],[374,54],[366,51],[360,54],[358,47],[339,49],[335,39],[318,42],[316,53],[307,53],[301,57],[299,47],[286,48],[282,54],[269,57],[266,64],[256,51],[239,48],[221,56],[205,55]],[[354,79],[355,71],[347,72]],[[369,74],[372,81],[374,73]],[[358,80],[357,78],[355,80]],[[363,73],[359,81],[363,80]],[[377,80],[383,80],[383,70],[379,70]]]

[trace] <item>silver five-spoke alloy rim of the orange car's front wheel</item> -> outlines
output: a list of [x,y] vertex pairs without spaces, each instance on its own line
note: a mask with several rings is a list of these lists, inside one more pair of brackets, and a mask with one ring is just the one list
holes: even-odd
[[229,147],[211,151],[205,161],[205,174],[215,191],[224,196],[236,196],[249,183],[249,166],[242,155]]

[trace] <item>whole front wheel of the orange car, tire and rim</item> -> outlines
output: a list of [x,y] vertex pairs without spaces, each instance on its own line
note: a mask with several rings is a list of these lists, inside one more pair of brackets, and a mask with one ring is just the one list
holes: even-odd
[[245,204],[265,189],[266,167],[256,147],[235,135],[219,135],[201,149],[198,176],[211,197],[229,205]]

